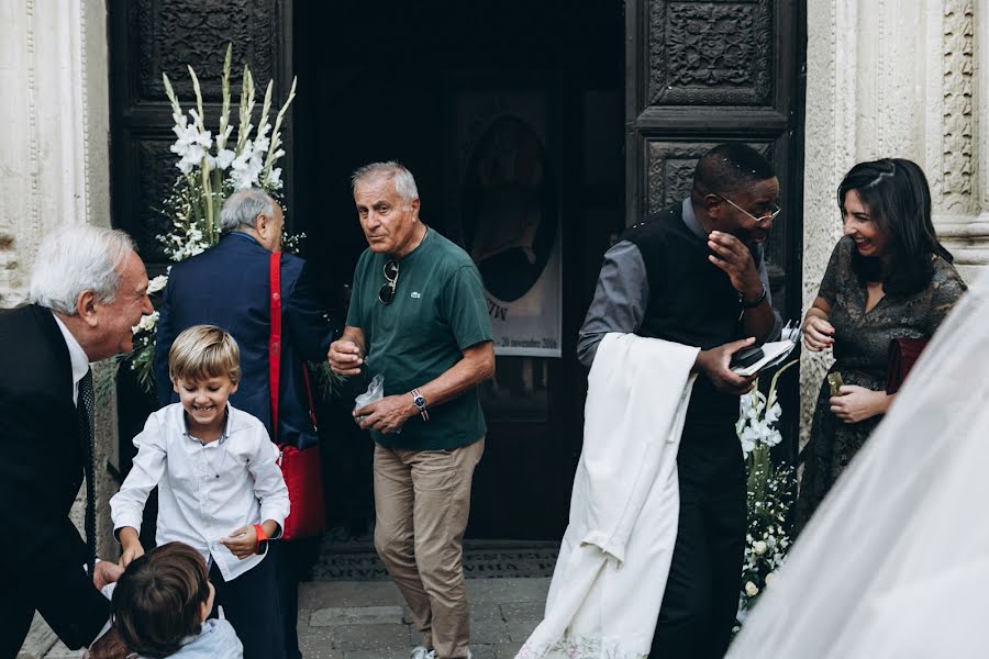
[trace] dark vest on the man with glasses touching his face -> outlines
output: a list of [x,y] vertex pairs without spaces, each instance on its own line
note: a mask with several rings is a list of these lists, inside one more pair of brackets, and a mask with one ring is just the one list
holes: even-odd
[[[649,302],[638,334],[710,349],[742,338],[742,305],[727,275],[708,260],[707,241],[684,222],[677,203],[629,227],[622,241],[642,254]],[[738,417],[738,396],[721,393],[700,373],[687,424],[723,426]]]

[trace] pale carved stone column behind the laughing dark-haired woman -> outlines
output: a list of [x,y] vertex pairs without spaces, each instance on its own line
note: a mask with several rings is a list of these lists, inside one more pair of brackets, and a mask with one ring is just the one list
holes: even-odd
[[[976,13],[975,0],[808,2],[804,310],[841,236],[837,185],[860,160],[920,164],[963,277],[989,265],[989,16]],[[802,440],[829,359],[803,357]]]

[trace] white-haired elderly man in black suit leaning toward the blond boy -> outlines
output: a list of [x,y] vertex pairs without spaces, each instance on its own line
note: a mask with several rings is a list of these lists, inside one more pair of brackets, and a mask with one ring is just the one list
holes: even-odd
[[[70,648],[107,626],[110,602],[97,588],[120,568],[93,565],[89,362],[133,349],[131,327],[153,311],[131,238],[86,225],[43,241],[30,295],[33,304],[0,312],[3,659],[18,654],[35,610]],[[88,547],[68,516],[84,471]]]

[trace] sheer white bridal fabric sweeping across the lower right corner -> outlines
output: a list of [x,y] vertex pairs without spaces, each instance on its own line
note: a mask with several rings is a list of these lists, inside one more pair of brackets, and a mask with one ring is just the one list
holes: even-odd
[[989,276],[934,336],[727,657],[989,657]]

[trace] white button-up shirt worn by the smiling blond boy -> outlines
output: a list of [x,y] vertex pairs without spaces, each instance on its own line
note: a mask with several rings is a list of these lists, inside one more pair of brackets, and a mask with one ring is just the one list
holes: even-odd
[[110,515],[114,533],[124,526],[140,533],[147,495],[158,485],[157,544],[186,543],[208,562],[212,558],[230,581],[265,555],[240,560],[220,539],[266,520],[284,526],[289,499],[277,463],[278,447],[264,424],[230,403],[226,409],[223,436],[209,444],[189,434],[181,403],[148,416],[144,431],[134,437],[137,456],[110,500]]

